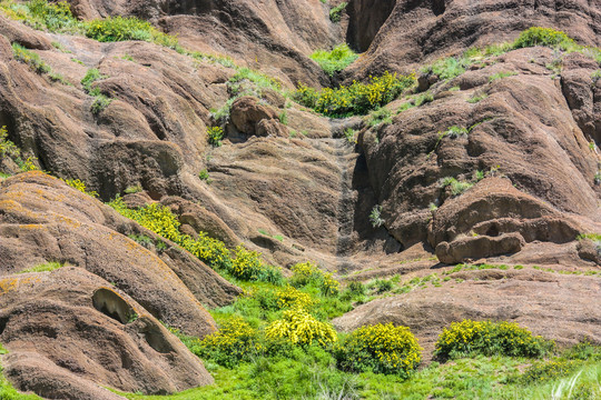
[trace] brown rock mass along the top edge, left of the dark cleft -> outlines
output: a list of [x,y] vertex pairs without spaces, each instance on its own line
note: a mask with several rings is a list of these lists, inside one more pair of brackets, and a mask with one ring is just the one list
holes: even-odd
[[331,4],[318,0],[69,2],[86,19],[137,16],[152,20],[186,47],[227,54],[290,87],[297,81],[327,84],[328,78],[308,56],[344,41],[341,26],[329,21]]

